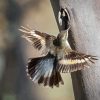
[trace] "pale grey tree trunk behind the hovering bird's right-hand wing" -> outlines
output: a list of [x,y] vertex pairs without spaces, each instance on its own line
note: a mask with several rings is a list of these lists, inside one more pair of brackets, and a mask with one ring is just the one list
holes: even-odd
[[[100,1],[59,0],[71,14],[71,30],[77,51],[100,57]],[[56,5],[58,6],[58,5]],[[58,6],[59,7],[59,6]],[[72,73],[76,100],[100,100],[100,62],[91,68]]]

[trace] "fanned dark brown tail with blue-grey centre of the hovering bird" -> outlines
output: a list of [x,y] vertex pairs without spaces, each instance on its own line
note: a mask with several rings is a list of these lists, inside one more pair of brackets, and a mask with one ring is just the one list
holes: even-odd
[[59,87],[59,83],[63,84],[62,77],[56,69],[56,59],[50,54],[30,59],[27,72],[34,83],[50,87]]

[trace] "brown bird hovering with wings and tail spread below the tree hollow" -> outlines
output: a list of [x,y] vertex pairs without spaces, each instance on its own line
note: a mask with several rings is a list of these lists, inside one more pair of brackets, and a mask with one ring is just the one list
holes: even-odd
[[[19,29],[34,49],[42,51],[43,56],[29,58],[27,74],[37,84],[59,87],[64,84],[61,73],[71,73],[91,66],[98,60],[96,56],[73,50],[68,42],[71,26],[57,36],[21,26]],[[41,54],[41,55],[42,55]]]

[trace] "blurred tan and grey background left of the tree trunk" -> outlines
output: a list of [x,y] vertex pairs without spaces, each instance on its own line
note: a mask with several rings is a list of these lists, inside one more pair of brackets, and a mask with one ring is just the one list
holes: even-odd
[[50,0],[0,0],[0,100],[74,100],[70,74],[53,89],[27,77],[27,59],[39,53],[21,38],[21,25],[59,33]]

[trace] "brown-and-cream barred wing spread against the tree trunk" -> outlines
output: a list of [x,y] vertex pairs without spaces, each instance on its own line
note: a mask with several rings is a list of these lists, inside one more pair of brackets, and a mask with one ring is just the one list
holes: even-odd
[[62,73],[74,72],[77,70],[89,67],[91,63],[94,63],[96,56],[85,55],[75,51],[69,52],[63,58],[58,61],[58,71]]

